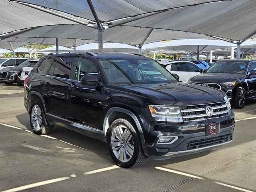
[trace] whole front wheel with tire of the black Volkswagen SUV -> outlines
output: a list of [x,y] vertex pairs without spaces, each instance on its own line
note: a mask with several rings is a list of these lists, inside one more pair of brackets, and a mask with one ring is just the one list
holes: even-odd
[[143,152],[136,124],[128,118],[116,119],[111,124],[108,149],[114,162],[122,168],[141,166],[148,158]]

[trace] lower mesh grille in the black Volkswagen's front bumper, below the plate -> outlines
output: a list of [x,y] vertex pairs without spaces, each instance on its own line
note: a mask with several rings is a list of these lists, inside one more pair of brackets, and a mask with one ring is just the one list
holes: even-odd
[[232,134],[225,134],[225,135],[220,135],[220,136],[215,136],[210,138],[193,140],[193,141],[187,142],[186,145],[182,147],[182,150],[192,150],[192,149],[213,146],[213,145],[222,144],[231,140],[232,140]]

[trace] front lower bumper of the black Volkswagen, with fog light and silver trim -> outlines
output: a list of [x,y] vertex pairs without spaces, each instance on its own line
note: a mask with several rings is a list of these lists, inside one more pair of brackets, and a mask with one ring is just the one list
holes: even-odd
[[162,132],[160,136],[177,136],[178,140],[172,144],[157,144],[146,146],[153,159],[170,159],[175,156],[182,156],[203,152],[227,144],[233,140],[235,123],[222,128],[219,134],[206,136],[205,132],[192,134],[177,134]]

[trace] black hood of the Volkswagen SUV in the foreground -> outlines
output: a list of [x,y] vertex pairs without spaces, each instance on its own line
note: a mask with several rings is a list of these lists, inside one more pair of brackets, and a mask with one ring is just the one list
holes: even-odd
[[224,92],[186,82],[169,84],[120,85],[122,88],[150,96],[156,104],[197,105],[224,101]]

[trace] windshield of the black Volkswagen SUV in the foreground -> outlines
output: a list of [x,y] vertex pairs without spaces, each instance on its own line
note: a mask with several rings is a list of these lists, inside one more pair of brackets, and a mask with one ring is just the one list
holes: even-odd
[[146,84],[178,82],[154,60],[99,60],[108,82],[113,84]]

